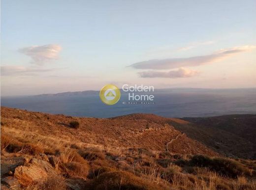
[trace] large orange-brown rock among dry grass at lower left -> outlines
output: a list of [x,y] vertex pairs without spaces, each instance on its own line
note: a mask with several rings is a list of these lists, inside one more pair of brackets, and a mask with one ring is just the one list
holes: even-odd
[[50,163],[32,158],[29,163],[16,167],[14,177],[19,180],[21,185],[28,186],[34,181],[43,181],[53,174],[56,172]]

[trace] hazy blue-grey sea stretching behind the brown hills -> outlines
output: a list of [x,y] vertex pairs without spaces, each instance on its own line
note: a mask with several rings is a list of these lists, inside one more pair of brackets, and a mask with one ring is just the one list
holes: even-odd
[[156,89],[154,104],[129,105],[128,94],[120,101],[103,104],[98,91],[67,92],[37,96],[1,97],[1,106],[79,117],[115,117],[130,113],[154,113],[164,117],[208,117],[226,114],[256,114],[256,88]]

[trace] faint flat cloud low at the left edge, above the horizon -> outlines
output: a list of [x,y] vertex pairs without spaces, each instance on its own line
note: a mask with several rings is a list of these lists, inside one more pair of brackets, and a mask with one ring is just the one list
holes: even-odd
[[35,73],[53,71],[54,69],[27,68],[24,66],[1,66],[1,76],[35,75]]

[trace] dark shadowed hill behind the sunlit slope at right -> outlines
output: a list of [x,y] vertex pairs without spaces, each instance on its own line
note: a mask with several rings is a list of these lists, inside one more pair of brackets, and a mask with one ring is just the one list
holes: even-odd
[[154,114],[130,114],[117,118],[168,123],[212,150],[231,158],[256,159],[256,115],[165,118]]

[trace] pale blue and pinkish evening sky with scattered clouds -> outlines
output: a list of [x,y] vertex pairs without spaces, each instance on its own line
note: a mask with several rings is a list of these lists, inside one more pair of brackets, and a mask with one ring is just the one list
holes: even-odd
[[1,95],[256,87],[255,0],[1,0]]

